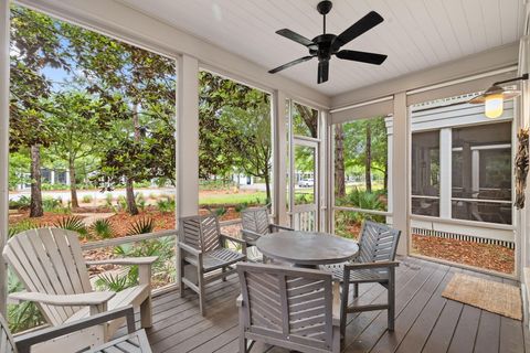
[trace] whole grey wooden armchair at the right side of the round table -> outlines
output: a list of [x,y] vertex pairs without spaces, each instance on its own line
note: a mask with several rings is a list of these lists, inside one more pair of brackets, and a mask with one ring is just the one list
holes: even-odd
[[[364,221],[359,238],[359,255],[353,261],[342,265],[326,265],[333,279],[341,282],[340,333],[344,336],[346,319],[350,312],[388,310],[388,328],[394,330],[395,314],[395,259],[401,231],[370,221]],[[349,288],[353,285],[353,298],[359,297],[359,284],[378,282],[388,290],[384,304],[348,306]]]

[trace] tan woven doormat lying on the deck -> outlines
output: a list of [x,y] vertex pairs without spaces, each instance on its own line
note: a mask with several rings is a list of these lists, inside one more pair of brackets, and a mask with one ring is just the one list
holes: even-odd
[[511,319],[522,320],[521,290],[473,276],[455,274],[442,297]]

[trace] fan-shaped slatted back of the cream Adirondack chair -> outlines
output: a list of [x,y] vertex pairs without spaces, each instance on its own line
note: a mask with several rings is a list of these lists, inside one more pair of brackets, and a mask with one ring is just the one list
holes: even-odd
[[[46,295],[93,291],[75,232],[60,228],[22,232],[9,239],[3,257],[28,291]],[[39,307],[53,325],[63,323],[80,309],[42,303]]]

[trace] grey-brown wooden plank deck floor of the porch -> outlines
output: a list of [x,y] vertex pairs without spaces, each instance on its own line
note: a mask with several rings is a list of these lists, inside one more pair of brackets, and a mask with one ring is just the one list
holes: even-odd
[[[526,352],[526,344],[530,352],[520,321],[442,298],[446,284],[457,271],[464,270],[402,259],[396,274],[395,331],[385,330],[385,312],[351,314],[344,352]],[[209,289],[205,318],[199,314],[194,295],[181,299],[172,291],[156,297],[155,323],[148,332],[153,352],[237,352],[236,278],[212,284]],[[360,287],[361,302],[379,302],[384,297],[379,285]],[[256,344],[252,352],[287,351]]]

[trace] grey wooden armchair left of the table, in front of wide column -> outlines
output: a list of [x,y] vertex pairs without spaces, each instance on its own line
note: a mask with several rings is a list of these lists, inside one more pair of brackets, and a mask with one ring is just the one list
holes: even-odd
[[[242,247],[243,254],[227,247],[227,242]],[[235,272],[235,265],[246,259],[246,244],[242,239],[222,234],[215,215],[197,215],[179,221],[179,270],[180,296],[184,297],[186,287],[199,295],[201,314],[205,310],[205,285],[225,280]]]

